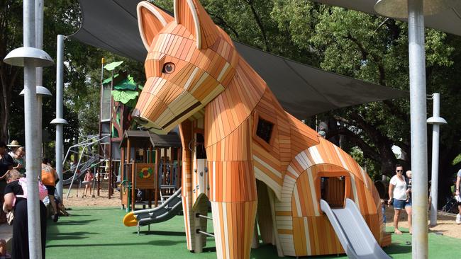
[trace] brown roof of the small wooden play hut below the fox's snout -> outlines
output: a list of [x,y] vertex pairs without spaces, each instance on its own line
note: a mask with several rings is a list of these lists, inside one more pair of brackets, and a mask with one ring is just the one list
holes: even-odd
[[143,130],[126,130],[123,133],[123,139],[120,146],[126,146],[130,139],[130,146],[137,148],[163,148],[163,147],[181,147],[181,140],[179,135],[170,132],[166,135],[157,135],[152,132]]

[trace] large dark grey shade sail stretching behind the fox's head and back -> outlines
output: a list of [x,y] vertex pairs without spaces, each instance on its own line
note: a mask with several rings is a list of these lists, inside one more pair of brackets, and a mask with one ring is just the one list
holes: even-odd
[[[138,0],[79,2],[83,23],[72,38],[144,62],[147,51],[138,32]],[[408,96],[405,91],[323,71],[240,42],[234,43],[284,109],[299,119],[350,105]]]

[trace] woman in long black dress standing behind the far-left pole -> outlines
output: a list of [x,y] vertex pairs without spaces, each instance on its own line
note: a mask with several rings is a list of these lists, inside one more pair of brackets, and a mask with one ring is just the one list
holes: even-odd
[[[23,188],[19,185],[18,177],[21,175],[16,169],[9,171],[9,183],[5,188],[5,204],[4,208],[11,210],[13,201],[14,204],[14,220],[13,220],[13,249],[12,258],[22,259],[29,258],[29,243],[28,243],[28,226],[27,226],[27,200],[17,195],[23,195]],[[40,200],[40,228],[42,239],[42,258],[45,258],[45,242],[46,242],[46,208]]]

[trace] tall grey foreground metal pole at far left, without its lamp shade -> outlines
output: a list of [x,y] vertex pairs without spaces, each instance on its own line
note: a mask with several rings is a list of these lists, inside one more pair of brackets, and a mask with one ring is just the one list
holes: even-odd
[[[23,1],[24,47],[35,47],[35,4],[33,0]],[[27,171],[27,210],[29,258],[42,258],[40,235],[40,200],[38,199],[38,154],[35,152],[37,132],[37,94],[35,67],[26,59],[24,64],[24,126],[26,149],[31,152],[26,156]]]

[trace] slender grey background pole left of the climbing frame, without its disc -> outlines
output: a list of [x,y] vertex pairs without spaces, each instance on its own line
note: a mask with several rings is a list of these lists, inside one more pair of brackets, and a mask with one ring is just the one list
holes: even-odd
[[[63,73],[64,73],[64,36],[57,35],[57,46],[56,46],[56,118],[62,119],[63,116],[63,108],[62,108],[62,91],[64,88],[63,84]],[[57,193],[59,193],[60,197],[62,196],[62,180],[64,179],[62,176],[62,156],[64,154],[64,148],[62,143],[63,137],[63,129],[64,125],[62,123],[56,124],[56,149],[55,149],[55,156],[56,156],[56,172],[61,179],[57,183]]]

